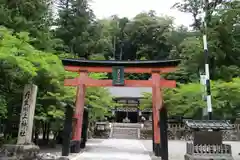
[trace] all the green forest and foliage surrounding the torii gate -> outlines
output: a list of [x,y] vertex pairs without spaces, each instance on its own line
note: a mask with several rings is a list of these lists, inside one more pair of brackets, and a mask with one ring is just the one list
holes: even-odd
[[[64,71],[63,58],[181,59],[175,73],[164,75],[178,82],[177,88],[164,89],[164,104],[171,116],[199,117],[206,107],[199,84],[204,71],[202,1],[182,0],[173,7],[190,13],[193,24],[176,26],[174,18],[157,16],[155,11],[133,19],[116,15],[97,19],[88,0],[0,0],[0,117],[7,124],[5,135],[12,135],[12,124],[19,121],[27,83],[38,86],[35,129],[42,129],[44,138],[49,130],[58,133],[65,111],[61,104],[74,105],[76,93],[76,88],[63,85],[64,78],[77,76]],[[240,1],[213,0],[206,7],[213,115],[234,119],[240,113]],[[90,76],[111,78],[105,73]],[[151,107],[151,94],[144,96],[141,107]],[[90,122],[111,114],[115,105],[106,88],[87,89]]]

